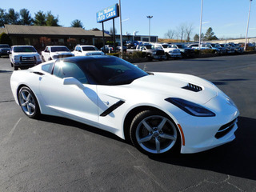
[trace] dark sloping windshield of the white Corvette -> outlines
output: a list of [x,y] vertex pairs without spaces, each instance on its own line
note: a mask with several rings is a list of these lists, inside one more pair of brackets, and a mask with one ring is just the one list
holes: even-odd
[[99,85],[130,84],[137,78],[148,75],[145,71],[121,58],[97,58],[79,62],[78,66]]

